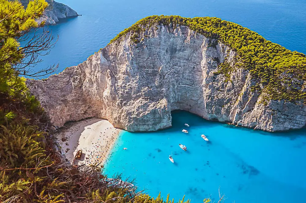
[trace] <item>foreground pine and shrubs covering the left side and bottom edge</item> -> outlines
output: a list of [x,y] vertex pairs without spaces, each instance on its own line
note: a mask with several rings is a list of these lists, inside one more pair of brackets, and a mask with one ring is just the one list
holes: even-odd
[[[20,47],[19,40],[41,26],[35,19],[46,7],[44,0],[30,2],[26,10],[17,1],[0,0],[0,202],[174,203],[169,195],[164,201],[160,195],[155,199],[135,187],[122,187],[119,181],[109,184],[98,166],[71,165],[62,158],[49,119],[16,68],[26,50],[36,50]],[[46,39],[36,42],[48,45]]]

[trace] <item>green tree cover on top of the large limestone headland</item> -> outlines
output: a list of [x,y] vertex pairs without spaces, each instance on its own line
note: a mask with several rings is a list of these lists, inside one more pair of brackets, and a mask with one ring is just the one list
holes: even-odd
[[[110,43],[127,33],[131,33],[133,42],[139,43],[143,39],[140,33],[158,24],[185,25],[206,37],[229,45],[239,56],[236,68],[250,71],[252,79],[257,82],[251,89],[262,93],[265,103],[271,99],[306,103],[306,56],[303,53],[292,52],[248,28],[220,18],[148,16],[119,33]],[[149,36],[144,35],[146,37]],[[219,68],[218,73],[224,74],[226,81],[229,81],[233,68],[229,68],[227,64],[219,64]]]

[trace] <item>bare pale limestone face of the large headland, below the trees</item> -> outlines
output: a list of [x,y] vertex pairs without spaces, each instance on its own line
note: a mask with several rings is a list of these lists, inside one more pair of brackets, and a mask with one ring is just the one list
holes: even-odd
[[[170,127],[178,109],[266,131],[305,125],[303,105],[260,103],[250,91],[255,82],[235,67],[239,57],[226,45],[186,26],[155,25],[141,35],[140,43],[128,33],[83,63],[31,82],[54,125],[100,117],[128,131],[154,131]],[[222,62],[233,67],[230,80],[216,73]]]

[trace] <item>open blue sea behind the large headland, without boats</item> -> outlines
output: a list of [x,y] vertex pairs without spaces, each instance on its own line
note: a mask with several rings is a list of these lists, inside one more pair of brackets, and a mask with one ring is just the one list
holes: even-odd
[[58,72],[77,65],[107,45],[124,28],[150,15],[216,16],[306,53],[305,0],[58,0],[82,16],[49,29],[59,40],[35,70],[59,63]]

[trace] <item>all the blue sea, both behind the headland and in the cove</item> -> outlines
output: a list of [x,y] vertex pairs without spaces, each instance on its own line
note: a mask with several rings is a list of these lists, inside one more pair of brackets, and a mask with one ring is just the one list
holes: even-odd
[[[137,20],[162,14],[219,17],[306,54],[305,0],[58,1],[82,16],[49,26],[59,40],[35,69],[59,63],[60,72],[77,65]],[[190,124],[188,134],[181,132],[185,122]],[[172,124],[158,132],[121,133],[105,172],[136,178],[139,189],[151,196],[170,192],[178,200],[186,194],[194,203],[209,195],[216,200],[218,187],[226,203],[306,202],[306,130],[267,133],[205,121],[187,112],[174,112]],[[181,150],[179,143],[188,150]],[[168,159],[171,153],[175,164]]]

